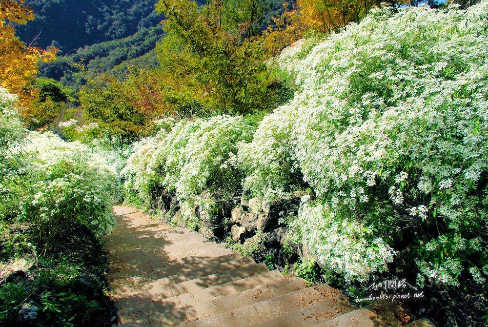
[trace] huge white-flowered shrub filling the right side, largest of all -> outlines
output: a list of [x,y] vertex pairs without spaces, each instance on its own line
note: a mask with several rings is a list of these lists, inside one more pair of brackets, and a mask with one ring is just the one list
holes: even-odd
[[486,279],[487,13],[378,9],[280,59],[302,90],[241,147],[262,159],[245,187],[303,174],[317,203],[297,230],[326,267],[364,280],[408,244],[420,284]]

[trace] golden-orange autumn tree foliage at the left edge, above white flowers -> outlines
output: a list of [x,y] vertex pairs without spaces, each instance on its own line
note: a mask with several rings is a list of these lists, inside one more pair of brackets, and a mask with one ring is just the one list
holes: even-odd
[[24,106],[37,97],[32,82],[39,72],[38,62],[54,60],[57,52],[53,48],[26,46],[15,36],[17,24],[33,19],[34,14],[24,0],[0,0],[0,85],[18,94]]

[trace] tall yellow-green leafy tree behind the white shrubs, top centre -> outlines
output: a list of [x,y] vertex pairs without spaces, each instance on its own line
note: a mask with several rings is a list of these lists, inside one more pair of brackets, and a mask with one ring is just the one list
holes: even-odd
[[207,94],[207,107],[219,113],[268,109],[286,93],[280,82],[270,80],[261,44],[251,41],[252,26],[259,16],[257,2],[253,3],[250,27],[241,33],[237,24],[247,16],[245,6],[237,7],[244,12],[232,14],[229,10],[235,7],[227,7],[225,2],[202,8],[189,0],[163,0],[157,5],[167,17],[164,28],[169,34],[157,48],[163,65],[172,75],[184,78],[194,93]]

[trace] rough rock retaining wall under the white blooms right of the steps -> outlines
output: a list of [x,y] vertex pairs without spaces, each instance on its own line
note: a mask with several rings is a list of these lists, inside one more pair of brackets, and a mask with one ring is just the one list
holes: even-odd
[[[163,216],[166,222],[186,227],[187,222],[182,219],[180,203],[175,193],[165,190],[158,192],[159,194],[151,195],[151,208],[158,211],[158,215]],[[246,201],[244,196],[224,199],[208,191],[203,191],[199,197],[211,197],[215,204],[211,213],[203,212],[198,204],[193,208],[199,219],[199,232],[203,236],[224,240],[230,233],[234,242],[244,245],[259,243],[266,247],[265,251],[281,255],[288,235],[285,227],[279,223],[280,218],[298,214],[302,194],[294,193],[268,202],[259,198]],[[293,245],[293,248],[298,253],[298,247]],[[287,251],[289,252],[289,247]]]

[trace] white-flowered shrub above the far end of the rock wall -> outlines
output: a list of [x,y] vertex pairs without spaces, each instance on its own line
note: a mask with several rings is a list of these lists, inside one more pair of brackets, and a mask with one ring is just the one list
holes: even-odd
[[175,191],[181,202],[193,201],[204,188],[235,179],[228,164],[239,142],[254,130],[241,117],[217,116],[176,123],[167,134],[143,140],[122,171],[125,186],[148,196],[151,187]]

